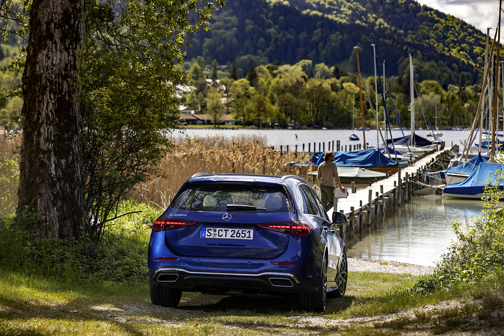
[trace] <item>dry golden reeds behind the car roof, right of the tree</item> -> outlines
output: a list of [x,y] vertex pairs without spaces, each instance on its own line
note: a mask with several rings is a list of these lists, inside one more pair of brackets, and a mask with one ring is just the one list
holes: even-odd
[[156,178],[138,184],[132,197],[137,202],[166,209],[171,199],[188,178],[199,172],[210,174],[297,175],[306,178],[309,166],[295,163],[309,161],[308,153],[280,152],[265,145],[258,137],[222,136],[174,139],[175,150],[161,163],[168,178]]

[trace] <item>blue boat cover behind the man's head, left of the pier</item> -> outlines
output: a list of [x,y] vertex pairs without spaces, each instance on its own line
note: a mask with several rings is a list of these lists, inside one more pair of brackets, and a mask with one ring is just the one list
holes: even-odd
[[[324,162],[324,153],[325,152],[314,153],[311,157],[311,162],[316,166],[320,165]],[[375,149],[334,152],[334,162],[336,162],[339,167],[371,168],[376,166],[398,166],[397,162],[390,160],[383,155],[383,153]]]

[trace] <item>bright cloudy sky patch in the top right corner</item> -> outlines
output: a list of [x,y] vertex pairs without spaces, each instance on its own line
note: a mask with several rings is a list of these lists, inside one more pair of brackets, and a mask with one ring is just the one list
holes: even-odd
[[[446,14],[462,19],[468,24],[486,34],[495,33],[498,21],[499,0],[416,0],[420,5],[426,5]],[[504,3],[502,4],[504,9]],[[504,15],[501,15],[501,20]]]

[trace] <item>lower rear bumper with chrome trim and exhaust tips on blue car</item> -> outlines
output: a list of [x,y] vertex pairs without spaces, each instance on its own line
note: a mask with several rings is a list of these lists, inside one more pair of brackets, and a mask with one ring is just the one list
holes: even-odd
[[298,275],[278,270],[258,273],[204,272],[169,266],[155,268],[150,275],[150,285],[190,292],[211,289],[275,293],[313,293],[316,291]]

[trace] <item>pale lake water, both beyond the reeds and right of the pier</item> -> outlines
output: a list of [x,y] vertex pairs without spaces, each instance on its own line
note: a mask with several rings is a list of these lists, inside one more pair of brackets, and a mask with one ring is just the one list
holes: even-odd
[[[352,130],[306,130],[306,129],[187,129],[189,137],[252,137],[264,138],[266,145],[279,148],[289,146],[294,150],[297,145],[298,151],[305,145],[308,151],[308,144],[313,151],[313,143],[317,150],[319,143],[340,141],[340,149],[350,150],[354,144],[362,144],[362,131],[354,131],[360,141],[346,141]],[[415,133],[421,137],[426,137],[428,131],[417,130]],[[410,135],[410,131],[404,131],[405,135]],[[468,130],[444,130],[440,138],[445,141],[446,147],[459,145],[462,150],[461,140],[467,138]],[[393,130],[392,137],[402,136],[400,130]],[[385,137],[385,135],[384,135]],[[366,143],[370,146],[377,144],[376,131],[365,131]],[[389,137],[390,138],[390,135]],[[381,141],[380,141],[381,142]],[[332,149],[332,148],[331,148]],[[357,235],[348,241],[347,253],[349,256],[375,258],[381,260],[391,260],[408,262],[412,264],[434,266],[440,260],[447,247],[456,238],[452,228],[452,222],[462,223],[464,228],[471,226],[471,218],[481,214],[483,204],[479,200],[451,199],[442,196],[428,195],[415,197],[409,203],[403,204],[400,209],[393,206],[387,208],[385,221],[376,230],[374,227],[362,228],[362,234]]]

